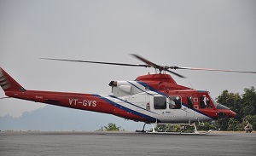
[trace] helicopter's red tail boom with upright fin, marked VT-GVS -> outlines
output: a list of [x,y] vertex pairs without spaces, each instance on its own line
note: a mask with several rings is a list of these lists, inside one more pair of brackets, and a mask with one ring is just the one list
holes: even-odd
[[25,90],[2,68],[0,68],[0,84],[5,95],[17,99],[98,113],[109,113],[135,121],[152,122],[154,120],[154,118],[151,118],[150,116],[138,113],[132,108],[124,107],[119,103],[116,103],[116,99],[109,95]]

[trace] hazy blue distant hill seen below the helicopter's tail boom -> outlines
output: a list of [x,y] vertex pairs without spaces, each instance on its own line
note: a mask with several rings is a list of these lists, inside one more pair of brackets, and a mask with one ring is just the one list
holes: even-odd
[[9,115],[0,117],[0,130],[94,131],[111,122],[121,126],[124,130],[141,130],[143,128],[143,123],[125,120],[110,114],[48,105],[32,112],[23,113],[20,118]]

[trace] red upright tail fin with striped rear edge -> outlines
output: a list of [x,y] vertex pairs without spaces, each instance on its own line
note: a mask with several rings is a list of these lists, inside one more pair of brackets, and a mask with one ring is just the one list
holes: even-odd
[[4,91],[26,91],[14,78],[0,67],[0,85]]

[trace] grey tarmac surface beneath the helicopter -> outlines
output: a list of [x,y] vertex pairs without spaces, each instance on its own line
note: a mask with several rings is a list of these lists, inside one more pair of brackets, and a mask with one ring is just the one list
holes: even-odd
[[0,132],[0,155],[256,155],[256,133]]

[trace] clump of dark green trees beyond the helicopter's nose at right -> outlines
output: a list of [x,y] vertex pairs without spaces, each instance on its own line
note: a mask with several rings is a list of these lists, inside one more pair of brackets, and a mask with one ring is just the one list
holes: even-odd
[[245,93],[229,93],[224,90],[218,95],[217,102],[226,107],[230,107],[236,113],[236,118],[220,118],[216,126],[220,130],[244,130],[244,126],[249,122],[256,128],[256,91],[254,87],[244,89]]

